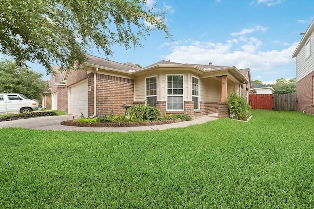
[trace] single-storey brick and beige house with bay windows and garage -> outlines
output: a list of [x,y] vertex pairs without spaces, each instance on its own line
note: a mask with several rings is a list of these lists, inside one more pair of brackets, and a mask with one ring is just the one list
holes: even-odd
[[160,61],[140,68],[91,55],[87,58],[90,63],[84,70],[52,76],[52,107],[94,117],[112,111],[121,114],[123,103],[147,102],[161,114],[197,117],[218,112],[219,117],[228,117],[228,94],[236,91],[247,98],[252,91],[250,70],[235,66]]

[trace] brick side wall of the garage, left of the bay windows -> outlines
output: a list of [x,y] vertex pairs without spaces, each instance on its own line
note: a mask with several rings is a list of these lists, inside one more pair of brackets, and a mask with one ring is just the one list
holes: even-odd
[[[91,91],[88,92],[89,111],[93,112],[94,108],[94,81],[93,73],[90,73],[88,85]],[[121,107],[123,102],[127,105],[133,103],[134,98],[134,80],[129,78],[121,78],[105,74],[96,75],[96,113],[97,116],[104,116],[105,113],[120,115],[125,112],[125,108]]]

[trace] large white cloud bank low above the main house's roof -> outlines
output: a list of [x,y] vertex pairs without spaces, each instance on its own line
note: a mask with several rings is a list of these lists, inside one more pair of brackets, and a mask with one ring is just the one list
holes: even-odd
[[[171,53],[163,56],[165,60],[179,63],[198,63],[222,66],[236,66],[238,69],[250,68],[251,73],[272,74],[280,73],[274,69],[292,64],[295,62],[292,54],[298,43],[293,43],[281,51],[261,51],[258,46],[261,41],[251,39],[251,42],[244,43],[240,50],[232,51],[235,42],[212,43],[187,40],[181,41],[170,47]],[[168,43],[169,44],[169,43]],[[167,44],[167,45],[168,45]]]

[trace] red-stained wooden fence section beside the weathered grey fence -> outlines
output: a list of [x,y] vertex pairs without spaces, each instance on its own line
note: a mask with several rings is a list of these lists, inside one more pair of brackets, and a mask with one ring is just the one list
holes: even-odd
[[249,105],[251,105],[253,110],[272,110],[273,96],[272,94],[250,94]]

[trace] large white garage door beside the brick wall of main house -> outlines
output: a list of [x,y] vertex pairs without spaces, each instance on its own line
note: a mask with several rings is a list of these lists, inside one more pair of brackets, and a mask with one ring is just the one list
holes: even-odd
[[70,114],[88,116],[88,83],[82,83],[70,88]]

